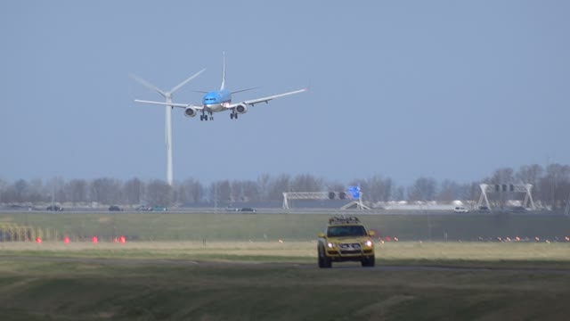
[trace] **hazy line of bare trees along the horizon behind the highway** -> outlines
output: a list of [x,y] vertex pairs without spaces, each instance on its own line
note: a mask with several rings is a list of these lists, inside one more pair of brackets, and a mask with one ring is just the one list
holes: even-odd
[[458,183],[432,177],[419,177],[412,185],[397,185],[391,177],[379,174],[354,178],[348,182],[315,177],[311,174],[261,174],[255,180],[219,180],[203,184],[188,178],[170,186],[163,180],[143,181],[132,178],[125,182],[101,177],[93,180],[64,180],[56,177],[18,179],[12,183],[0,179],[1,203],[68,202],[72,204],[147,204],[172,206],[205,202],[281,202],[283,192],[342,192],[348,186],[361,187],[366,202],[477,200],[479,184],[532,184],[535,202],[559,209],[570,197],[570,165],[524,165],[519,169],[496,169],[489,177],[470,183]]

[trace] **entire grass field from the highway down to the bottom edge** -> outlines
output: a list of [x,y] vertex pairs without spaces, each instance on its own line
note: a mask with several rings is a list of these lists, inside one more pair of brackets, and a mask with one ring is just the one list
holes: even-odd
[[[0,243],[0,316],[2,320],[568,318],[570,243],[554,242],[554,235],[569,233],[566,217],[509,218],[502,227],[492,224],[498,219],[493,217],[447,217],[362,216],[367,226],[388,231],[384,235],[403,235],[398,236],[403,241],[377,240],[379,268],[338,263],[332,269],[318,269],[315,236],[327,218],[322,215],[0,215],[4,225],[34,226],[42,233],[49,229],[53,238],[44,243]],[[456,229],[462,231],[458,235],[466,231],[481,235],[491,230],[514,237],[525,230],[541,238],[498,243],[411,237],[415,231],[429,234],[425,224],[432,233]],[[454,233],[447,233],[451,240]],[[72,242],[62,243],[61,235],[72,236]],[[137,241],[80,242],[90,235],[136,235]],[[405,242],[406,235],[416,241]]]

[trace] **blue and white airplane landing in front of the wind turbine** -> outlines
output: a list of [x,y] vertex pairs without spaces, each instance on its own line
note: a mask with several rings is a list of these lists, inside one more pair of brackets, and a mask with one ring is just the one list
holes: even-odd
[[248,91],[251,89],[254,88],[243,89],[234,92],[230,92],[229,90],[225,89],[225,55],[224,55],[224,66],[222,70],[222,86],[220,86],[219,90],[210,91],[210,92],[201,92],[205,93],[205,95],[202,97],[202,104],[163,103],[163,102],[155,102],[155,101],[147,101],[139,99],[134,100],[134,102],[166,105],[166,106],[171,106],[172,108],[174,107],[183,108],[184,115],[186,117],[195,117],[198,113],[201,113],[199,116],[200,120],[208,120],[208,119],[214,120],[213,114],[215,112],[220,112],[220,111],[230,111],[230,119],[238,119],[238,115],[248,112],[248,106],[254,106],[256,103],[269,103],[269,101],[273,99],[281,98],[287,95],[304,93],[305,91],[308,90],[307,88],[298,89],[283,94],[270,95],[267,97],[246,100],[240,103],[232,103],[232,94]]

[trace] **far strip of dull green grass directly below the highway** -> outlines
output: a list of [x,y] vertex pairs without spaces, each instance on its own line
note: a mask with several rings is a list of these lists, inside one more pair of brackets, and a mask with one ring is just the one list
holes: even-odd
[[[364,212],[365,213],[365,212]],[[332,216],[331,214],[330,216]],[[2,213],[0,226],[33,226],[44,236],[130,235],[142,241],[314,240],[329,215],[184,213]],[[570,218],[561,215],[366,215],[359,216],[382,236],[402,241],[476,241],[497,237],[570,237]]]

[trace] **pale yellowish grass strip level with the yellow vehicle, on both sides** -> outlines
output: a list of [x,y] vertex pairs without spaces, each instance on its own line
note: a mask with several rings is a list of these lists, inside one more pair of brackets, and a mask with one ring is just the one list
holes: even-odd
[[[0,243],[0,258],[175,259],[314,264],[312,242]],[[478,268],[570,268],[570,243],[376,244],[379,265]]]

